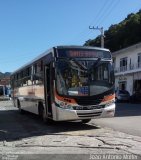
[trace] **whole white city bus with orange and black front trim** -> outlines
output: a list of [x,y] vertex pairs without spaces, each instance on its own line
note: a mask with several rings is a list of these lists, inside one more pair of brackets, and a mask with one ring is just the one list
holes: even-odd
[[44,121],[113,117],[114,69],[108,49],[57,46],[11,75],[12,97],[20,112]]

